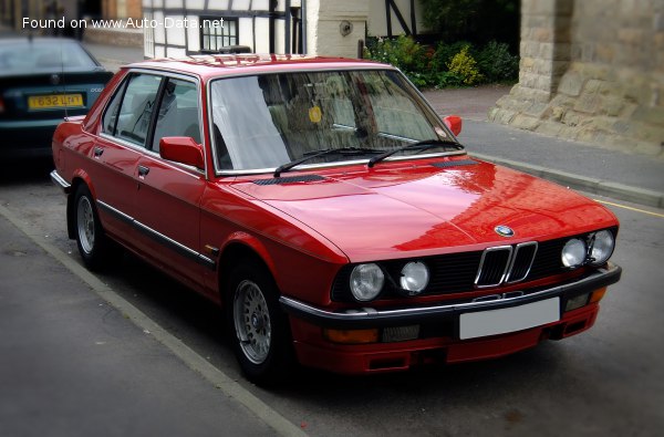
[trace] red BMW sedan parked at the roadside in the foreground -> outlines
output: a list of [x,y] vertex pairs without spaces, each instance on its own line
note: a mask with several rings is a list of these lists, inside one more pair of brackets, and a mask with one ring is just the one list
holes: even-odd
[[[453,132],[454,131],[454,132]],[[362,374],[591,327],[616,218],[481,162],[392,66],[217,55],[128,65],[53,138],[69,236],[226,308],[239,364]]]

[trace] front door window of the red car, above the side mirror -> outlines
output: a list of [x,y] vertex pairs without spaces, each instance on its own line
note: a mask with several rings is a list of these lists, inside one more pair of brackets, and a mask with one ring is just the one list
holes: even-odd
[[165,136],[190,136],[196,143],[200,143],[198,112],[196,84],[168,79],[157,113],[152,149],[158,152],[159,139]]

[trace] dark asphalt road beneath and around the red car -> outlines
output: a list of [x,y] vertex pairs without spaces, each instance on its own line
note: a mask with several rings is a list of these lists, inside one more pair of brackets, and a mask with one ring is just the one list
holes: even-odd
[[[49,170],[48,163],[0,168],[0,205],[80,264]],[[129,254],[98,279],[311,436],[661,435],[664,211],[600,200],[619,205],[609,206],[622,225],[613,260],[624,273],[595,326],[495,361],[372,377],[303,371],[267,392],[239,375],[214,305]],[[163,389],[170,389],[166,382]]]

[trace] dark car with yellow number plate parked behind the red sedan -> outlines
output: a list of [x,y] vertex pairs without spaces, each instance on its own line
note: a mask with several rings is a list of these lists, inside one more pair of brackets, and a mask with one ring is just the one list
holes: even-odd
[[58,124],[86,114],[112,76],[74,40],[0,39],[0,158],[50,156]]

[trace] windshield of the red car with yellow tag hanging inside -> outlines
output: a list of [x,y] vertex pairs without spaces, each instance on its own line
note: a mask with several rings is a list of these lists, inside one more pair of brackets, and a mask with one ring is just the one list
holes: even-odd
[[392,70],[230,77],[212,82],[210,93],[219,170],[273,169],[311,155],[307,164],[370,159],[412,143],[452,139]]

